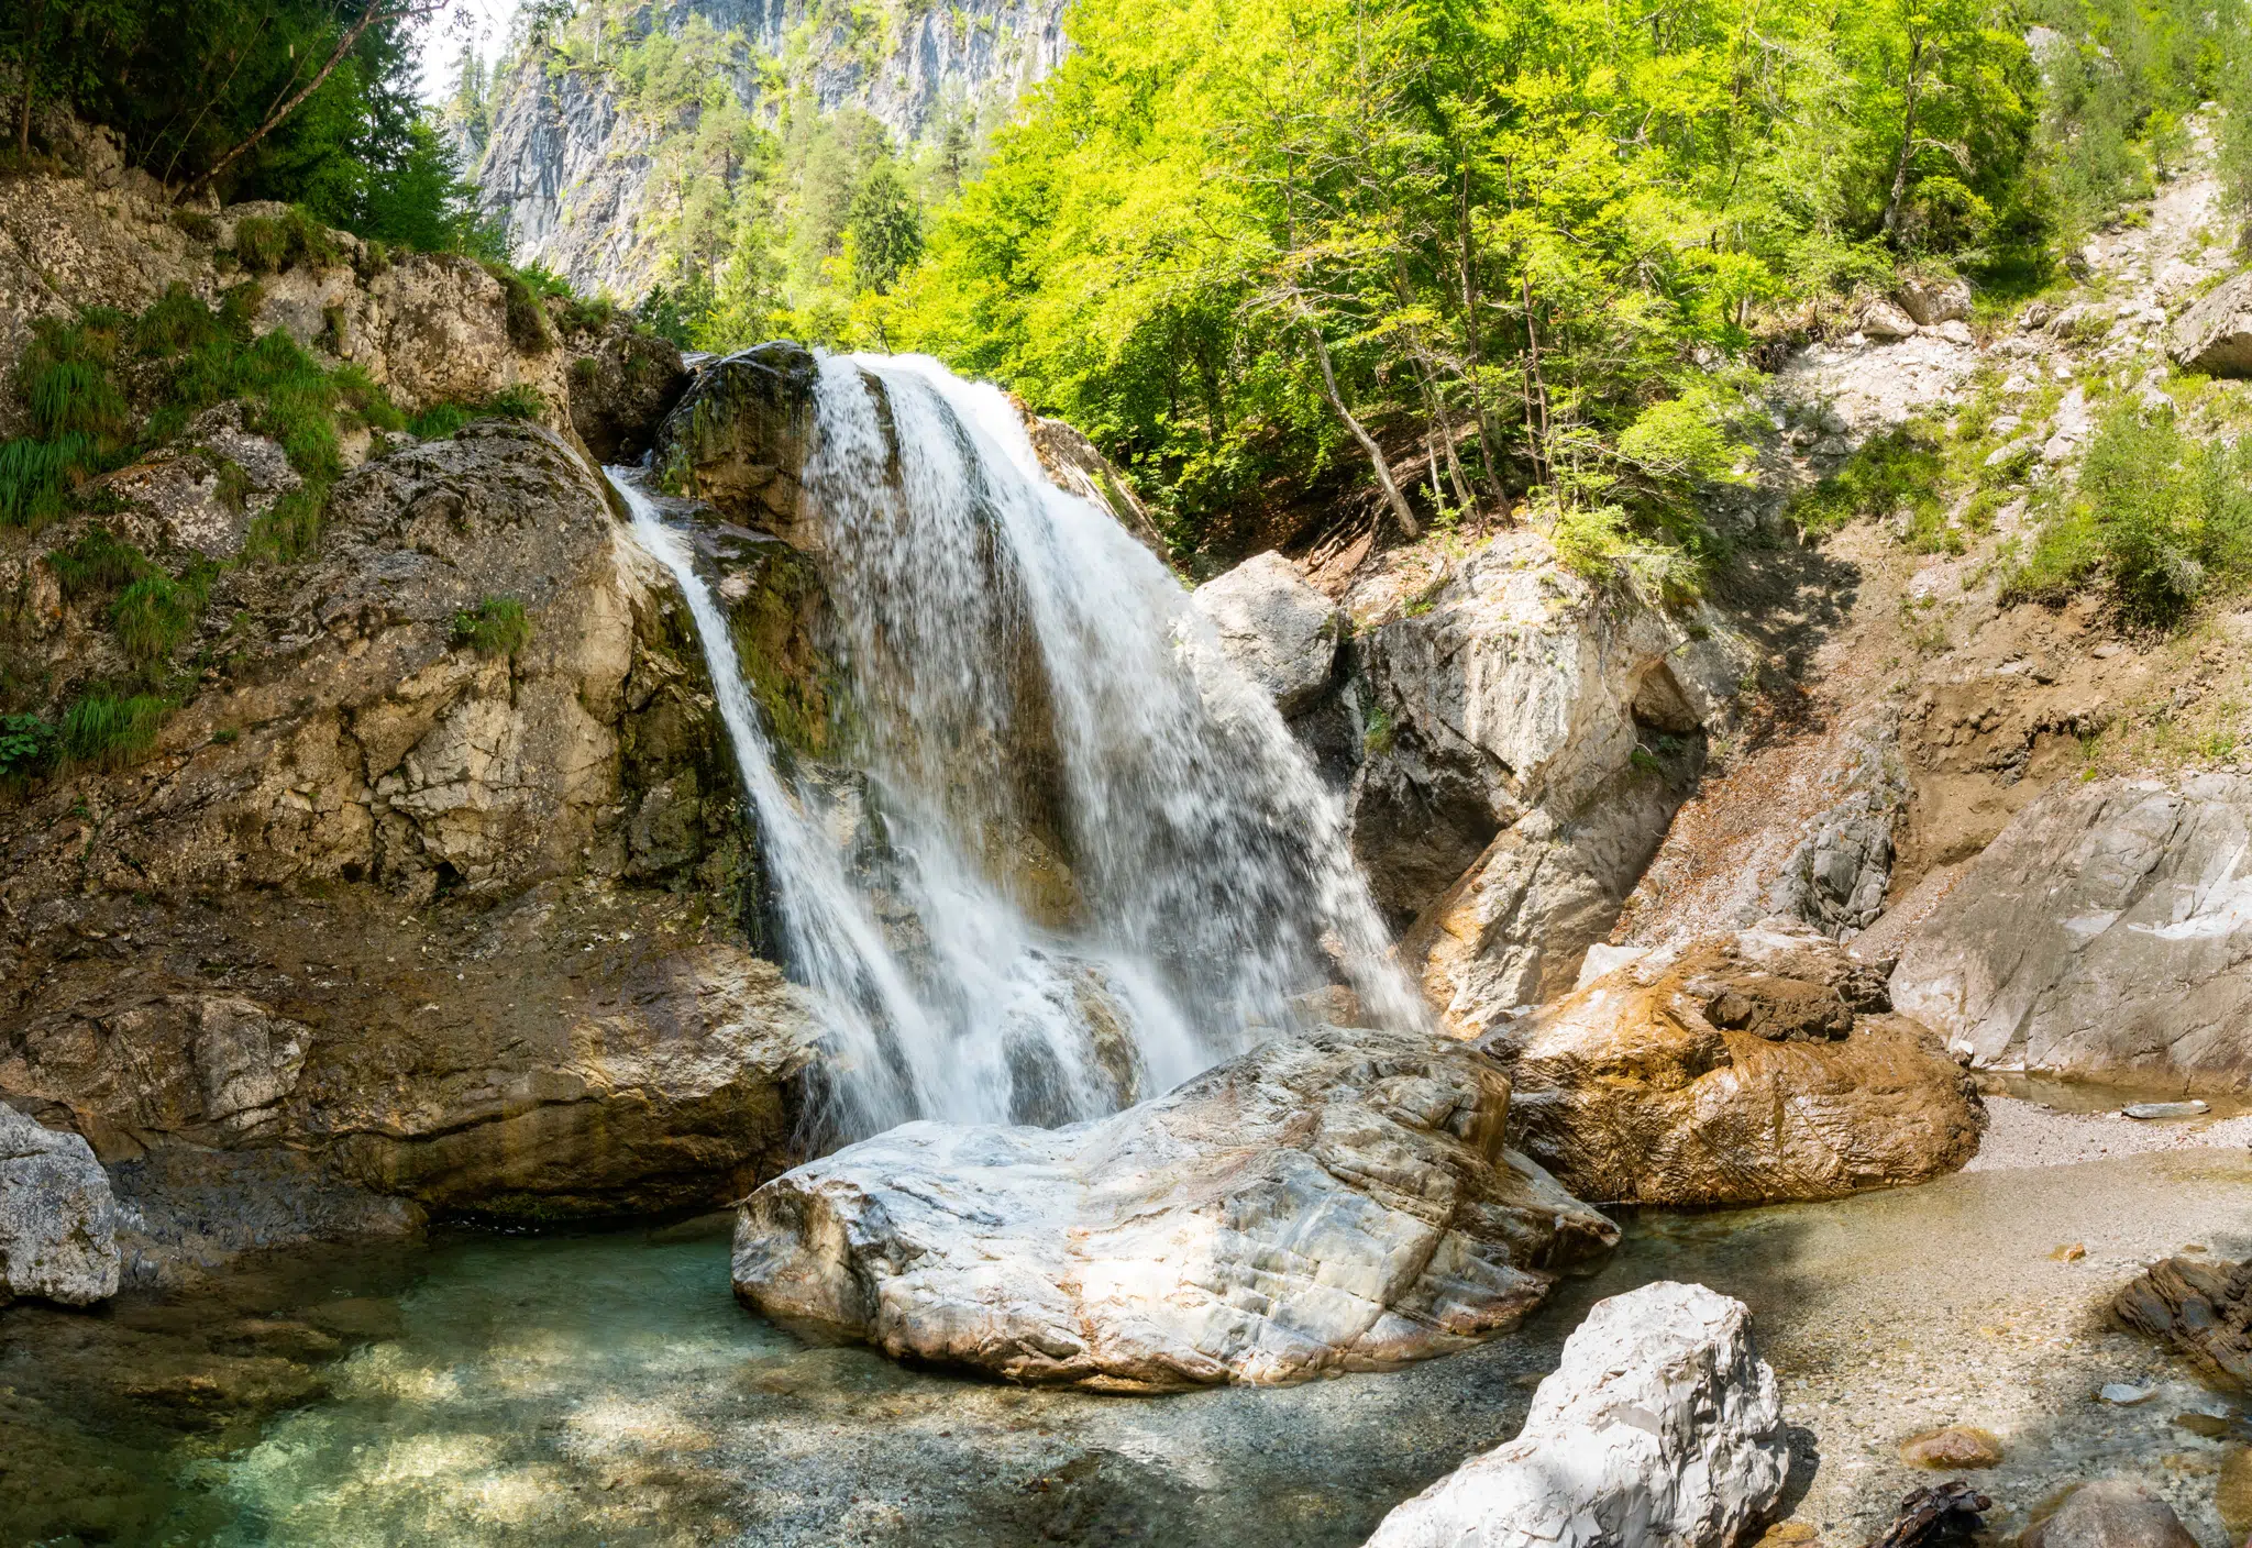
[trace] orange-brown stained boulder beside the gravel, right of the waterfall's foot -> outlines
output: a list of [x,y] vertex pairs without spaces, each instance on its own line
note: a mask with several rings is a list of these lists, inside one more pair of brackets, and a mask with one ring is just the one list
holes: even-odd
[[1495,1030],[1518,1143],[1633,1204],[1829,1199],[1977,1154],[1973,1082],[1883,979],[1804,925],[1651,954]]

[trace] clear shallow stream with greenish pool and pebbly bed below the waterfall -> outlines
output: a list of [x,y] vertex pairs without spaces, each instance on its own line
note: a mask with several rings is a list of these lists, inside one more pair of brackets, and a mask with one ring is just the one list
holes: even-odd
[[[2252,1156],[1980,1172],[1838,1204],[1644,1213],[1522,1332],[1396,1375],[1182,1397],[1036,1393],[808,1348],[727,1289],[727,1222],[435,1233],[248,1264],[104,1312],[0,1312],[0,1541],[1351,1546],[1509,1438],[1590,1300],[1743,1296],[1802,1426],[1793,1510],[1858,1548],[1898,1438],[2009,1444],[1998,1530],[2135,1472],[2218,1548],[2243,1415],[2097,1307],[2139,1260],[2252,1253]],[[2083,1244],[2065,1260],[2058,1246]],[[2092,1400],[2151,1379],[2133,1408]],[[2218,1422],[2178,1415],[2207,1411]]]

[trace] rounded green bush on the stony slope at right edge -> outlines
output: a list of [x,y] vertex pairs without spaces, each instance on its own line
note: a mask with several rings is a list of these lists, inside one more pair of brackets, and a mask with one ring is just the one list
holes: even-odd
[[2101,580],[2142,626],[2178,623],[2252,574],[2252,443],[2200,443],[2166,414],[2112,410],[2072,497],[2043,522],[2007,594],[2063,601]]

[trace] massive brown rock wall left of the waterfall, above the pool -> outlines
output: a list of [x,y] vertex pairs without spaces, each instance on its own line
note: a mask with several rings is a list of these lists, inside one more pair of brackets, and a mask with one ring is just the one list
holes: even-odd
[[[522,632],[480,644],[495,596]],[[786,659],[790,616],[745,628]],[[140,763],[0,803],[0,1094],[137,1168],[151,1276],[234,1242],[198,1188],[272,1244],[412,1226],[376,1195],[678,1208],[793,1159],[813,1030],[743,945],[700,655],[570,446],[482,421],[367,461],[320,551],[221,572],[203,630],[182,659],[223,666]],[[99,670],[101,639],[65,614],[43,648]]]

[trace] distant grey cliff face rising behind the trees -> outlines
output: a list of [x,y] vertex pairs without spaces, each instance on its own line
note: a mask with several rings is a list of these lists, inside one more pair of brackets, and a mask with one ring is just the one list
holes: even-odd
[[[946,112],[1009,104],[1063,58],[1061,0],[966,0],[887,16],[874,38],[829,27],[804,0],[673,0],[653,25],[682,32],[691,18],[721,36],[730,68],[718,79],[766,124],[781,97],[804,90],[817,112],[863,110],[901,144],[937,130]],[[781,92],[766,88],[786,74]],[[622,104],[601,70],[565,65],[531,45],[493,81],[491,133],[475,164],[480,205],[509,232],[518,261],[545,263],[586,292],[637,297],[667,272],[644,216],[667,146],[696,133],[700,104],[671,119]]]

